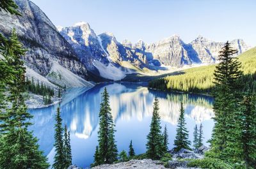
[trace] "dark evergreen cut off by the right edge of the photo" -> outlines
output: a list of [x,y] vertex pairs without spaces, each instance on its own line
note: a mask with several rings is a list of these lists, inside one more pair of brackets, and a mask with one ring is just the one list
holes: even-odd
[[247,93],[240,107],[241,112],[241,142],[246,169],[256,166],[256,96]]

